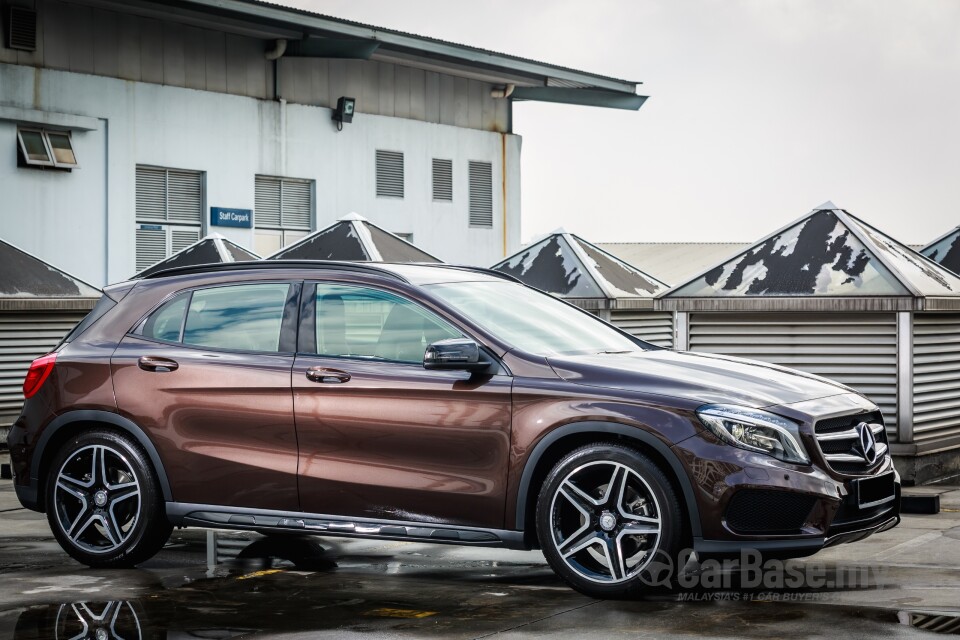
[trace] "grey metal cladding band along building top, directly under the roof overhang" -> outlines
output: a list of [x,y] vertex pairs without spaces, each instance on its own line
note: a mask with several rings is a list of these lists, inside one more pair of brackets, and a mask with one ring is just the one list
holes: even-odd
[[[272,41],[60,0],[38,0],[37,50],[0,47],[0,62],[274,99]],[[483,131],[509,130],[492,85],[375,60],[281,58],[280,95],[333,108]]]

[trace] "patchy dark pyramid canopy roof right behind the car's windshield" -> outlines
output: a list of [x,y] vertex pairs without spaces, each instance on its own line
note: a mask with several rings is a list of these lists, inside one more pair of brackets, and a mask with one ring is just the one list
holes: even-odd
[[492,268],[564,298],[652,300],[667,289],[653,276],[562,229]]

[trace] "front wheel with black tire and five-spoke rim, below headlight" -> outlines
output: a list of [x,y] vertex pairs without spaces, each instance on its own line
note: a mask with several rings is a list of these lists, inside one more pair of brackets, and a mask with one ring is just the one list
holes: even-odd
[[[551,568],[592,598],[668,586],[682,540],[680,502],[647,456],[618,444],[581,447],[550,471],[537,498],[537,537]],[[669,573],[667,571],[666,573]]]

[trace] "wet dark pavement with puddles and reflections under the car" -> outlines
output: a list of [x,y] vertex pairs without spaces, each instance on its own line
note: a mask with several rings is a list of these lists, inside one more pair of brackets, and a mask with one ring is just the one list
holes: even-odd
[[222,550],[254,557],[211,568],[198,529],[137,569],[95,571],[0,480],[0,639],[960,634],[960,489],[923,491],[942,494],[940,514],[754,576],[704,565],[688,589],[622,602],[570,590],[538,552],[332,538],[251,550],[259,536],[221,534]]

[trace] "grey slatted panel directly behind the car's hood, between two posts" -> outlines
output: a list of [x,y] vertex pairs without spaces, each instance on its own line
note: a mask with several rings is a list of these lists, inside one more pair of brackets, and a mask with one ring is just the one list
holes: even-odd
[[831,378],[877,403],[896,437],[892,313],[691,313],[690,350],[752,358]]

